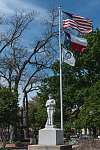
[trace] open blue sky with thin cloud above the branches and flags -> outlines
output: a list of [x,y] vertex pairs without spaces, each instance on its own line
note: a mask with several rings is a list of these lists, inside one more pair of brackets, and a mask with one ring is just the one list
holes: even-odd
[[[100,0],[0,0],[0,13],[9,15],[15,9],[26,12],[36,10],[41,17],[45,17],[50,6],[58,7],[59,4],[62,11],[92,19],[94,29],[100,28]],[[40,18],[38,21],[41,21]],[[32,30],[37,34],[40,32],[38,23],[34,24]]]

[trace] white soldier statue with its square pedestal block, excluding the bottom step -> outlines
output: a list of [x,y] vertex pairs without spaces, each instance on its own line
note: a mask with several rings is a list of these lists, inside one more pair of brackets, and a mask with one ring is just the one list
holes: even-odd
[[48,95],[49,99],[46,101],[47,107],[47,122],[44,129],[39,130],[39,145],[62,145],[63,131],[56,128],[54,125],[54,112],[56,102],[52,98],[52,94]]

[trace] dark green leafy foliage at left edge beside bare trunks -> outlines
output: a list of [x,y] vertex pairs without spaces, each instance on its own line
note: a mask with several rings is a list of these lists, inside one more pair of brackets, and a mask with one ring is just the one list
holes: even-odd
[[0,89],[0,126],[7,127],[16,121],[18,111],[16,93],[9,88]]

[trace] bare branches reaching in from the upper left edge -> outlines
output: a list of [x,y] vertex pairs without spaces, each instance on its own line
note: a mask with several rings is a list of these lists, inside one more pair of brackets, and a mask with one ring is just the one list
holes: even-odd
[[1,25],[6,26],[6,31],[0,33],[0,53],[21,37],[23,31],[26,30],[36,16],[36,11],[25,14],[24,11],[15,10],[9,19],[8,17],[2,18]]

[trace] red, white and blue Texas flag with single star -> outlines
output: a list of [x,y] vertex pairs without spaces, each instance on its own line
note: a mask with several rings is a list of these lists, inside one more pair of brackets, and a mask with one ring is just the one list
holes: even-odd
[[67,32],[64,32],[64,45],[71,46],[72,49],[83,52],[87,47],[87,39],[78,38],[73,35],[70,35]]

